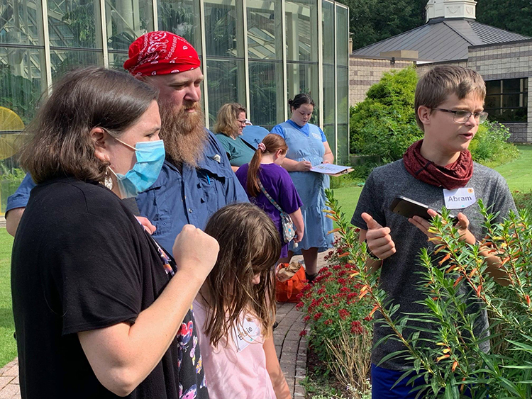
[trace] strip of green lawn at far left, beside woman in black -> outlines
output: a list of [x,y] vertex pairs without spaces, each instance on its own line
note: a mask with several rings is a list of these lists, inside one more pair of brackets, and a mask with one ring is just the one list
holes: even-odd
[[15,325],[11,310],[11,247],[13,237],[0,229],[0,367],[16,356]]

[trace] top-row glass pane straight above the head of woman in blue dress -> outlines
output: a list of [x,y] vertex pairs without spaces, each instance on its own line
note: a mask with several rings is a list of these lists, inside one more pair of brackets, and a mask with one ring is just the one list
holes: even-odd
[[315,0],[286,1],[287,60],[318,60],[318,7]]

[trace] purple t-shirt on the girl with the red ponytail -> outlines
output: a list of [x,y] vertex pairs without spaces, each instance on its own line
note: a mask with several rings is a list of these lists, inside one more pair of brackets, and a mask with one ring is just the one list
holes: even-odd
[[[245,189],[246,193],[246,184],[248,181],[248,164],[243,164],[238,171],[236,171],[236,176]],[[294,183],[290,175],[277,164],[261,164],[259,167],[259,179],[262,182],[262,186],[266,189],[267,193],[270,194],[275,202],[281,207],[282,210],[286,213],[294,213],[296,210],[301,208],[303,203],[299,194],[297,193]],[[255,203],[259,208],[262,208],[265,213],[273,220],[275,227],[279,231],[279,237],[281,237],[281,242],[283,243],[281,249],[281,257],[288,256],[288,244],[284,244],[282,237],[282,225],[281,225],[281,215],[279,210],[273,206],[273,204],[266,198],[262,191],[256,196],[251,197],[248,193],[248,198],[250,203]]]

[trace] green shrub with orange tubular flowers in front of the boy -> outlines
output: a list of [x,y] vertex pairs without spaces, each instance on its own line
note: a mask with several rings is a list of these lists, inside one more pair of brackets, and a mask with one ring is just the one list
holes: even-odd
[[[527,210],[510,214],[502,223],[479,201],[486,236],[475,245],[460,240],[448,212],[433,220],[431,232],[436,247],[423,249],[419,290],[425,299],[423,313],[399,315],[399,305],[390,304],[379,286],[379,272],[366,268],[367,248],[358,242],[353,229],[327,192],[329,215],[340,226],[342,259],[353,269],[352,284],[362,285],[361,294],[375,304],[379,322],[391,329],[404,350],[390,354],[411,361],[413,367],[402,378],[423,378],[419,398],[521,398],[532,397],[532,215]],[[508,286],[499,286],[487,273],[481,251],[500,257],[499,268],[507,274]],[[463,294],[460,288],[466,288]],[[361,297],[362,300],[364,297]],[[472,302],[480,305],[472,308]],[[482,310],[491,326],[475,334]],[[429,334],[429,337],[423,335]],[[484,352],[487,339],[492,351]],[[378,344],[378,343],[377,343]],[[470,396],[466,389],[471,388]]]

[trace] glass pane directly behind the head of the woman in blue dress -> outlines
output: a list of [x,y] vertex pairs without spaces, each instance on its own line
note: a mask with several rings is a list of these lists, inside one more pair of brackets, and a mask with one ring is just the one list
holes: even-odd
[[288,98],[293,99],[296,94],[310,94],[316,106],[310,120],[318,125],[318,64],[287,64]]

